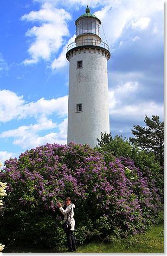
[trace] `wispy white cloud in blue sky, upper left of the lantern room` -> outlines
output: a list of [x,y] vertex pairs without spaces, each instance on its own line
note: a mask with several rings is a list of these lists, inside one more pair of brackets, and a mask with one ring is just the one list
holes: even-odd
[[52,4],[44,3],[39,11],[31,11],[22,16],[22,20],[39,22],[40,26],[29,29],[27,36],[33,38],[28,50],[31,58],[24,64],[37,63],[38,60],[49,60],[64,44],[63,36],[69,36],[67,21],[71,16],[64,9],[57,9]]

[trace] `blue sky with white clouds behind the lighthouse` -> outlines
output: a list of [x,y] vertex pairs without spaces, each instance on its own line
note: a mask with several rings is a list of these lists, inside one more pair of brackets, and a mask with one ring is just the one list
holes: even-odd
[[[67,45],[87,0],[0,2],[0,160],[46,143],[67,143]],[[163,120],[163,8],[160,0],[89,0],[110,46],[111,135]],[[104,31],[102,29],[104,28]]]

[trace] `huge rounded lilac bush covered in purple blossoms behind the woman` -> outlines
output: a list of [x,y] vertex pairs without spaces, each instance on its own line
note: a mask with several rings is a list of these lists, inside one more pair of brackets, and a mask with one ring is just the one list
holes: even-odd
[[56,200],[64,202],[66,196],[76,206],[78,244],[143,232],[163,209],[149,169],[143,175],[129,157],[88,145],[47,144],[27,150],[18,160],[5,162],[0,180],[8,183],[2,220],[2,229],[7,221],[11,227],[4,235],[8,243],[64,246]]

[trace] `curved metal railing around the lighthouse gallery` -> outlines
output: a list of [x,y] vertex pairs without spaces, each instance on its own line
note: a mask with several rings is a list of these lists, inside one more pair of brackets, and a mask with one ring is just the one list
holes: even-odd
[[99,42],[99,40],[95,40],[95,39],[82,39],[82,40],[77,40],[77,42],[72,42],[67,46],[67,51],[71,50],[74,47],[88,46],[88,45],[100,46],[102,48],[105,48],[107,51],[110,51],[110,48],[105,42]]

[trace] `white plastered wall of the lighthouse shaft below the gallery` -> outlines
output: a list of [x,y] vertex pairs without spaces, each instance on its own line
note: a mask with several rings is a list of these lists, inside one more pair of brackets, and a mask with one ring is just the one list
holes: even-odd
[[[69,59],[68,141],[98,144],[101,132],[110,132],[106,52],[93,48],[73,52]],[[82,68],[77,69],[77,61]],[[76,104],[82,112],[76,113]]]

